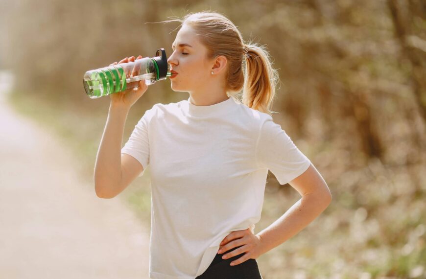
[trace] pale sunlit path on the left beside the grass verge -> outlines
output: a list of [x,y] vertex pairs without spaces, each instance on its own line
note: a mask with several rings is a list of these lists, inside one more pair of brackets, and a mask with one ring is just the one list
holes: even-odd
[[8,107],[4,80],[1,74],[0,278],[148,278],[149,228],[119,197],[96,197],[66,147]]

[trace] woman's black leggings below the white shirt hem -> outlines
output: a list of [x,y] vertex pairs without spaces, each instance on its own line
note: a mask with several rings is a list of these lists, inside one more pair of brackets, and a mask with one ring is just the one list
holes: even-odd
[[250,258],[237,265],[229,265],[231,261],[244,256],[245,253],[222,259],[224,254],[239,247],[241,246],[234,247],[222,254],[216,254],[207,270],[200,276],[197,276],[196,279],[262,279],[258,262],[254,258]]

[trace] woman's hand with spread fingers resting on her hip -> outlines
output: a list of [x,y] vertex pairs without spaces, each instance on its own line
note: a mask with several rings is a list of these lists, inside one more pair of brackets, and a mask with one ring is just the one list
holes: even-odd
[[245,252],[244,256],[241,256],[231,262],[231,265],[240,264],[251,258],[256,259],[263,254],[262,239],[259,235],[253,234],[250,228],[228,234],[220,243],[218,254],[223,254],[226,251],[238,246],[242,247],[239,247],[238,249],[223,255],[226,256],[225,259],[227,259]]

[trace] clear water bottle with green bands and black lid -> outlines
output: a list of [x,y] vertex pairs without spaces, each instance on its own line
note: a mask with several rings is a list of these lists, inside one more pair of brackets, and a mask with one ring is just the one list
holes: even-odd
[[146,85],[150,85],[168,76],[171,76],[171,73],[167,67],[166,51],[160,48],[152,58],[145,57],[134,62],[88,70],[84,74],[83,85],[89,97],[95,99],[137,88],[142,79]]

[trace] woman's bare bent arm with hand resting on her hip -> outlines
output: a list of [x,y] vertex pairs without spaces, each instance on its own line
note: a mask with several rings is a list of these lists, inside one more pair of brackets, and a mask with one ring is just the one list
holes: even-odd
[[243,231],[231,232],[223,239],[220,244],[219,254],[234,247],[242,246],[225,254],[225,258],[245,252],[243,256],[231,262],[231,265],[240,264],[250,258],[258,258],[260,255],[284,243],[287,239],[307,227],[331,203],[330,189],[312,164],[303,174],[288,184],[295,188],[302,198],[288,209],[283,216],[256,235],[249,228]]

